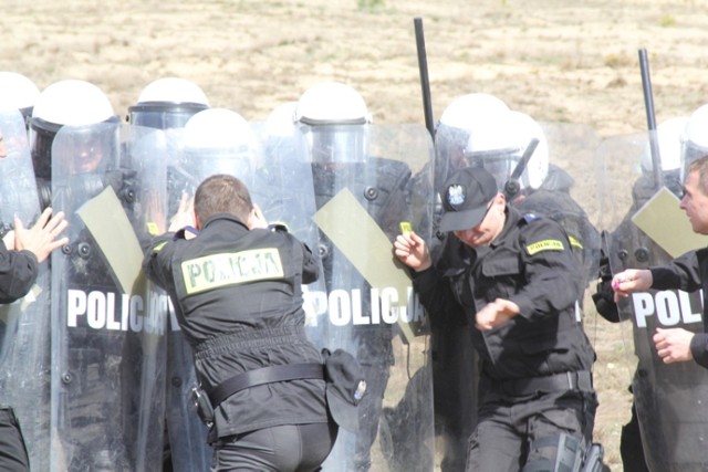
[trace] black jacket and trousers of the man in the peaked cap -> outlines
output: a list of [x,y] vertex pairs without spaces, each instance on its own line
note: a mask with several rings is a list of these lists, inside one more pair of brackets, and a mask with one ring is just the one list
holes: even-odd
[[[472,329],[481,385],[468,470],[519,470],[544,458],[553,464],[560,451],[539,440],[562,432],[590,443],[595,354],[575,314],[582,270],[558,223],[507,207],[503,230],[489,247],[473,249],[448,234],[435,265],[414,277],[429,313],[462,314],[469,326],[496,298],[520,308],[489,332]],[[491,438],[492,422],[513,432]]]

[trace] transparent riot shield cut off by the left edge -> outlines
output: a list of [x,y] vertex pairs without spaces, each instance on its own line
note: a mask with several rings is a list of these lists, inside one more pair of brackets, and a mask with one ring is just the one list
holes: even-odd
[[[24,119],[0,112],[7,157],[0,159],[0,235],[18,216],[30,227],[40,214]],[[32,470],[49,470],[50,279],[48,264],[23,298],[0,306],[0,402],[15,410]]]

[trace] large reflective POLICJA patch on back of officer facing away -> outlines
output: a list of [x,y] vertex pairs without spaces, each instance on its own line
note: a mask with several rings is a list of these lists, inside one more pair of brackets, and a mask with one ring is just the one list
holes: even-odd
[[181,263],[187,294],[206,292],[225,285],[280,279],[284,275],[275,248],[219,253]]

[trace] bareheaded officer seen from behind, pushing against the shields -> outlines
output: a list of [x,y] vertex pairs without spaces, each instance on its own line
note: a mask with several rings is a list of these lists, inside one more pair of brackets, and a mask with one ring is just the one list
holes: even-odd
[[356,429],[358,363],[340,349],[323,356],[304,332],[301,287],[317,266],[228,175],[202,181],[194,211],[184,198],[150,242],[143,269],[169,294],[195,352],[211,470],[317,470],[339,427]]

